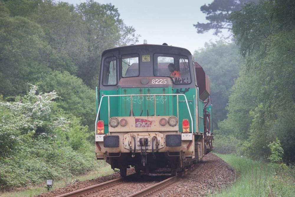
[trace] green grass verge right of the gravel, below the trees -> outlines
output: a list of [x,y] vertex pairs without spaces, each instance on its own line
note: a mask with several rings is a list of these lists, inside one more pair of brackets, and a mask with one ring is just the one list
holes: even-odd
[[214,154],[237,171],[232,187],[214,196],[295,196],[294,166],[275,169],[262,161],[233,154]]

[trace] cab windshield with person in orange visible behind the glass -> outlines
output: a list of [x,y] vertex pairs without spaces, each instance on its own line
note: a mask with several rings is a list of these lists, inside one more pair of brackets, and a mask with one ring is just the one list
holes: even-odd
[[175,84],[191,83],[189,60],[186,56],[155,54],[154,74],[155,76],[169,76]]

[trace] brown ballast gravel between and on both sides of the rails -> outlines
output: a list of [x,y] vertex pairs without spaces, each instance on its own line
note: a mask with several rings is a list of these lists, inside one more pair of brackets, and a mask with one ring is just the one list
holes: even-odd
[[[133,173],[135,173],[133,168],[127,171],[127,174]],[[99,177],[97,179],[80,181],[70,184],[65,188],[40,194],[38,197],[58,196],[119,177],[119,173],[113,173],[112,175]],[[235,180],[235,177],[235,171],[226,162],[216,155],[209,153],[205,155],[200,162],[200,167],[197,167],[196,170],[180,178],[178,181],[166,185],[160,190],[154,191],[148,196],[207,196],[220,191],[222,188],[229,187]],[[89,196],[128,196],[158,183],[164,178],[163,176],[155,178],[142,175],[140,179],[124,181],[111,188],[104,188],[101,192],[92,193]]]

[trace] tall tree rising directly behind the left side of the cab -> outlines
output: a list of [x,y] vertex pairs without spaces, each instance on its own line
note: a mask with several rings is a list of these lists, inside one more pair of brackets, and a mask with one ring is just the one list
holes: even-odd
[[76,59],[79,65],[77,76],[89,87],[95,87],[99,77],[101,53],[108,48],[136,43],[138,36],[133,27],[124,24],[118,9],[112,4],[99,4],[89,0],[78,5],[76,12],[84,21],[83,35],[86,39],[84,58]]

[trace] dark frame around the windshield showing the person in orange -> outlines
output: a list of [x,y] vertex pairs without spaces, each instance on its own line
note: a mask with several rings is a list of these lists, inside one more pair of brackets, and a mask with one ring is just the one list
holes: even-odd
[[[172,78],[171,76],[166,76],[166,75],[156,75],[156,74],[155,74],[155,65],[156,65],[156,64],[158,65],[158,57],[159,57],[159,56],[157,56],[157,58],[155,58],[155,56],[156,56],[157,54],[164,55],[164,57],[179,56],[178,62],[179,62],[179,60],[180,60],[181,58],[183,58],[183,59],[187,59],[187,60],[188,60],[187,64],[188,64],[188,66],[189,66],[189,77],[190,77],[190,82],[189,82],[189,83],[175,83],[174,80],[173,80],[173,78]],[[169,56],[169,55],[170,55],[170,56]],[[174,57],[172,57],[172,58],[174,58]],[[175,59],[175,58],[174,58],[174,59]],[[174,61],[175,61],[175,60],[174,60]],[[190,62],[189,57],[186,56],[186,55],[181,55],[180,53],[179,53],[179,54],[175,54],[175,53],[158,53],[158,52],[157,52],[157,53],[153,53],[153,74],[154,74],[154,76],[169,77],[169,78],[171,78],[171,81],[172,81],[173,84],[175,84],[175,85],[186,85],[186,84],[191,84],[191,83],[192,83],[192,78],[191,78],[191,64],[190,64],[189,62]],[[157,67],[157,68],[158,68],[158,67]]]

